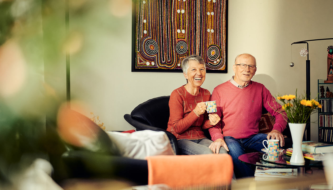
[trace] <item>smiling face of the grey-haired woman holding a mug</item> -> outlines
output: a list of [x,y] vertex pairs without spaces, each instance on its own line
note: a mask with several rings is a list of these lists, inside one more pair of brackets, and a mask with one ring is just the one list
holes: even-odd
[[188,69],[185,74],[185,79],[187,79],[187,85],[191,88],[199,88],[205,81],[206,69],[203,64],[199,64],[195,60],[188,61]]

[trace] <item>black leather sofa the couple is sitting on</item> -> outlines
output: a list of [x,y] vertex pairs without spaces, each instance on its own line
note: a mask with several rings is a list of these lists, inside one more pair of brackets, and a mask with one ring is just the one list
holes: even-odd
[[[160,96],[149,99],[135,107],[131,114],[125,114],[124,118],[137,130],[149,129],[166,132],[175,153],[179,155],[180,151],[178,150],[176,137],[169,131],[166,131],[170,115],[169,99],[170,96]],[[262,113],[267,113],[267,110],[263,108]],[[207,138],[211,138],[208,130],[204,130],[204,133]],[[282,148],[286,149],[292,147],[292,139],[288,124],[282,134],[287,136],[285,137],[285,146]]]

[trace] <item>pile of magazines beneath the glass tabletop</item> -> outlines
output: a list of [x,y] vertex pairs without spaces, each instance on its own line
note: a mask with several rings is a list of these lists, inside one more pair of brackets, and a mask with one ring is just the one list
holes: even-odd
[[278,180],[295,177],[297,177],[297,169],[293,168],[268,168],[265,166],[256,166],[254,172],[255,181]]

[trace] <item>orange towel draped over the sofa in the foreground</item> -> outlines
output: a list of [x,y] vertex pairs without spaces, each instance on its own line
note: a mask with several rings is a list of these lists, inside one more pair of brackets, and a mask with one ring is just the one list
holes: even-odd
[[231,183],[233,164],[228,154],[149,156],[148,185],[172,188],[221,186]]

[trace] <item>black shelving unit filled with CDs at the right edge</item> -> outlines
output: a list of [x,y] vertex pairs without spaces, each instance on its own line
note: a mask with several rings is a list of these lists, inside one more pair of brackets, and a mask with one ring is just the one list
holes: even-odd
[[[318,102],[322,108],[318,108],[318,141],[333,144],[333,98],[326,97],[326,87],[333,92],[333,83],[322,83],[318,79]],[[320,97],[320,86],[324,86],[324,96]]]

